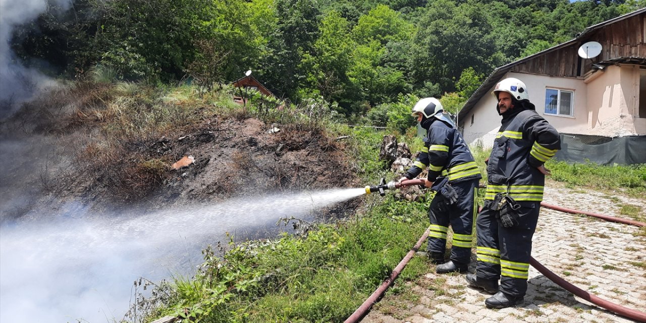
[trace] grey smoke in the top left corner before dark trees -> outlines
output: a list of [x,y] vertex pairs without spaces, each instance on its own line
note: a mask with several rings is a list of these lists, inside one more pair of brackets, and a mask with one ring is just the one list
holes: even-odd
[[[64,10],[71,4],[69,0],[52,2]],[[45,10],[47,0],[0,0],[0,118],[53,83],[37,70],[21,64],[10,46],[14,28],[36,19]]]

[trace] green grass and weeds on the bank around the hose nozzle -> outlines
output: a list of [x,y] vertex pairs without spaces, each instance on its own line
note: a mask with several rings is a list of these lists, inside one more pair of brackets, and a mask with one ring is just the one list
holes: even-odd
[[[388,176],[378,160],[384,132],[342,126],[329,131],[349,136],[348,154],[356,156],[366,182]],[[364,198],[366,207],[352,220],[318,225],[306,236],[232,244],[222,258],[205,249],[200,272],[176,278],[177,292],[160,314],[195,322],[345,320],[428,227],[427,202],[397,201],[393,194]],[[413,257],[393,292],[407,295],[404,283],[428,267],[426,258]]]

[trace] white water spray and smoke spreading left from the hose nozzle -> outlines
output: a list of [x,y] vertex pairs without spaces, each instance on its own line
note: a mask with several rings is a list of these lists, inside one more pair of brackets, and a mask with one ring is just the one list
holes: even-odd
[[227,232],[275,232],[280,218],[309,220],[316,209],[364,193],[256,196],[140,216],[89,214],[69,203],[50,220],[0,225],[0,322],[118,322],[138,278],[190,276],[200,249],[227,242]]

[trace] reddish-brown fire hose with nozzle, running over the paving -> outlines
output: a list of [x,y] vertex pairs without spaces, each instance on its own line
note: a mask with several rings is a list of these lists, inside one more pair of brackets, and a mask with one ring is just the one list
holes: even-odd
[[[379,185],[366,186],[366,194],[379,192],[379,194],[381,196],[384,196],[386,194],[385,193],[386,189],[389,189],[389,190],[399,189],[401,187],[412,186],[412,185],[424,185],[424,180],[419,180],[419,179],[417,179],[417,180],[404,180],[402,182],[389,182],[389,183],[386,183],[384,178],[382,178]],[[548,209],[561,211],[561,212],[564,212],[564,213],[584,214],[584,215],[587,215],[587,216],[593,216],[595,218],[601,218],[603,220],[610,221],[610,222],[619,222],[619,223],[623,223],[623,224],[636,225],[638,227],[646,226],[646,224],[644,224],[643,222],[637,222],[637,221],[633,221],[633,220],[621,219],[621,218],[616,218],[614,216],[607,216],[607,215],[591,213],[591,212],[587,212],[587,211],[579,211],[579,210],[575,210],[575,209],[568,209],[566,207],[559,207],[557,205],[552,205],[552,204],[548,204],[548,203],[544,203],[544,202],[541,202],[541,206],[547,207]],[[409,251],[408,254],[406,254],[406,256],[404,256],[404,258],[401,260],[401,262],[399,262],[397,267],[395,267],[395,269],[393,270],[391,275],[388,276],[388,278],[386,278],[386,280],[384,280],[382,285],[379,286],[379,288],[377,288],[377,290],[375,290],[372,293],[372,295],[370,295],[370,297],[368,297],[368,299],[366,299],[366,301],[364,301],[364,303],[361,304],[361,306],[359,306],[359,308],[357,308],[357,310],[354,313],[352,313],[352,315],[350,315],[344,321],[344,323],[359,322],[359,320],[361,318],[363,318],[368,313],[368,311],[370,310],[370,307],[372,307],[373,304],[375,304],[377,302],[377,300],[379,300],[379,298],[383,295],[383,293],[386,291],[386,289],[388,289],[388,287],[390,287],[393,284],[395,278],[397,278],[397,276],[399,276],[399,273],[401,273],[401,271],[404,269],[404,267],[406,267],[406,264],[408,264],[408,262],[413,257],[413,255],[415,255],[415,252],[417,252],[417,250],[421,246],[422,242],[424,242],[424,240],[428,237],[429,232],[430,232],[429,229],[426,229],[424,234],[422,234],[421,238],[417,241],[417,244],[415,244],[413,246],[413,249],[411,249],[411,251]],[[541,274],[543,274],[544,276],[546,276],[547,278],[552,280],[552,282],[556,283],[558,286],[563,287],[564,289],[566,289],[570,293],[572,293],[572,294],[574,294],[574,295],[576,295],[576,296],[578,296],[580,298],[583,298],[584,300],[587,300],[587,301],[591,302],[592,304],[595,304],[595,305],[597,305],[599,307],[603,307],[603,308],[611,311],[612,313],[616,313],[616,314],[621,315],[623,317],[627,317],[627,318],[630,318],[630,319],[633,319],[633,320],[638,320],[639,322],[646,322],[646,313],[636,311],[634,309],[629,309],[627,307],[624,307],[624,306],[609,302],[608,300],[604,300],[603,298],[597,297],[596,295],[592,295],[592,294],[588,293],[587,291],[584,291],[583,289],[580,289],[579,287],[576,287],[573,284],[570,284],[569,282],[567,282],[563,278],[557,276],[555,273],[552,273],[552,271],[547,269],[547,267],[545,267],[545,266],[541,265],[539,262],[537,262],[537,260],[534,259],[534,257],[530,257],[530,265],[532,265],[532,267],[536,268]]]

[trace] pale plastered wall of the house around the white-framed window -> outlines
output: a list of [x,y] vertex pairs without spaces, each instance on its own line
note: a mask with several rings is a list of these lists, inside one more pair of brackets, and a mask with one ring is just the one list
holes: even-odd
[[[514,72],[506,74],[503,78],[517,78],[525,82],[530,101],[536,105],[536,111],[559,132],[608,137],[646,134],[646,118],[639,118],[638,111],[638,67],[611,65],[594,72],[585,80]],[[548,87],[574,91],[572,116],[545,114],[545,89]],[[472,145],[492,147],[501,120],[495,105],[494,96],[486,94],[466,118],[459,120],[463,127],[464,140]]]

